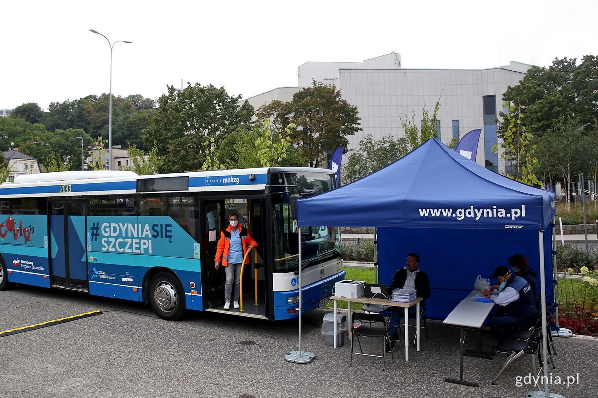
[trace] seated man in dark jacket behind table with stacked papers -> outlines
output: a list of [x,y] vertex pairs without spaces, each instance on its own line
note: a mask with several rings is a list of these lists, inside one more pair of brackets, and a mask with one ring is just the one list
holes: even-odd
[[[430,297],[430,283],[428,274],[419,269],[419,255],[415,253],[407,254],[407,262],[404,268],[395,272],[392,282],[388,286],[390,290],[396,288],[414,288],[417,291],[417,297],[422,297],[424,300]],[[423,301],[421,303],[423,305]],[[409,308],[409,313],[415,313],[416,307]],[[388,335],[390,337],[390,345],[387,345],[386,351],[392,352],[395,349],[395,341],[399,340],[399,327],[401,326],[401,314],[404,313],[404,308],[390,307],[390,325],[388,328]],[[405,322],[407,322],[405,320]]]

